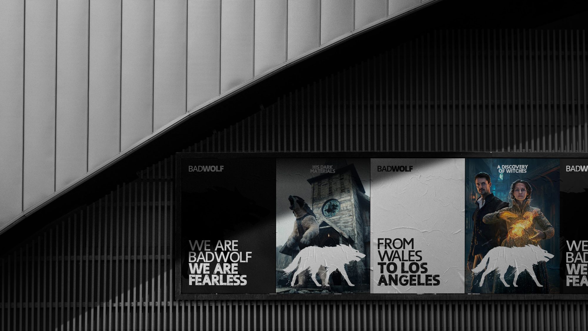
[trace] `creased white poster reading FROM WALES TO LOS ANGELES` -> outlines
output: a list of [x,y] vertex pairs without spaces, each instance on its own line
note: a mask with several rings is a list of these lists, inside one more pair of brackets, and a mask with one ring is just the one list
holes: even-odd
[[[413,169],[378,172],[377,166]],[[463,293],[464,176],[463,158],[372,159],[372,293]],[[439,274],[439,286],[377,286],[378,238],[414,239],[419,263],[427,263],[427,274]]]

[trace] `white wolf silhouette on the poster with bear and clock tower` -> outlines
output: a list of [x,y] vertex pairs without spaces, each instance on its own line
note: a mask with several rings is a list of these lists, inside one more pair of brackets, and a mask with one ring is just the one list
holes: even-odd
[[[359,250],[343,244],[339,244],[335,247],[309,246],[298,253],[292,263],[284,269],[284,272],[288,274],[296,270],[292,276],[291,283],[291,285],[294,286],[296,276],[298,276],[299,273],[305,272],[306,269],[310,269],[310,276],[312,277],[313,282],[315,282],[316,286],[320,286],[316,281],[316,273],[318,273],[319,269],[322,269],[321,266],[323,266],[326,268],[325,279],[322,279],[321,277],[323,287],[329,287],[329,276],[335,272],[335,270],[339,270],[349,286],[355,286],[349,281],[349,277],[345,272],[345,264],[349,264],[349,262],[352,261],[359,261],[363,259],[363,257],[365,257],[365,254],[360,253]],[[297,267],[298,269],[296,269]]]

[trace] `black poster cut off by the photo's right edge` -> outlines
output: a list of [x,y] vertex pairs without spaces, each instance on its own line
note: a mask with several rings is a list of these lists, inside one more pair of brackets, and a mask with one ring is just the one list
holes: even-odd
[[588,293],[588,223],[583,217],[588,202],[588,160],[560,160],[561,293]]

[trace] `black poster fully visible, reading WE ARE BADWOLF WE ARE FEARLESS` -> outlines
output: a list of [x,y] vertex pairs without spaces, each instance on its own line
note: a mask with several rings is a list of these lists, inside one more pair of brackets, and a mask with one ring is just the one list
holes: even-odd
[[275,159],[176,161],[176,299],[274,292]]

